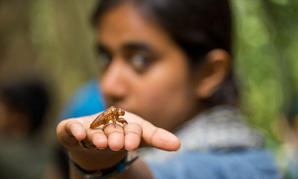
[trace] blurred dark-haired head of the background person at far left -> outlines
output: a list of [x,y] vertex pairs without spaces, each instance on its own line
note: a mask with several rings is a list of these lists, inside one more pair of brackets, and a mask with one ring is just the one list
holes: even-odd
[[27,138],[40,129],[49,95],[38,80],[20,79],[4,84],[0,91],[1,134]]

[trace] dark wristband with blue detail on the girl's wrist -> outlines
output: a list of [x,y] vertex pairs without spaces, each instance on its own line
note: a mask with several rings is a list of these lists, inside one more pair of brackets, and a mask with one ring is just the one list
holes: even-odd
[[86,179],[105,179],[105,178],[111,178],[115,175],[127,170],[129,168],[129,165],[134,162],[139,156],[135,156],[134,158],[131,158],[131,151],[128,151],[125,155],[125,157],[117,163],[115,166],[100,170],[100,171],[86,171],[82,169],[80,166],[78,166],[72,159],[70,158],[69,152],[67,152],[68,160],[74,166],[74,168],[84,176]]

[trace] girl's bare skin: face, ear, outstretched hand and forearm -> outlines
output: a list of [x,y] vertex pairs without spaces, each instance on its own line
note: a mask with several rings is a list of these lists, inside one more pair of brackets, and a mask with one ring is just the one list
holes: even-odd
[[[69,150],[73,161],[86,170],[114,166],[125,155],[125,149],[151,146],[178,150],[179,139],[167,130],[173,131],[206,108],[199,101],[210,97],[226,77],[229,54],[221,49],[212,50],[206,62],[193,70],[184,51],[158,24],[140,16],[131,4],[106,12],[99,21],[98,32],[98,42],[104,47],[102,54],[112,56],[103,72],[101,87],[108,105],[125,110],[123,117],[128,125],[117,124],[115,128],[109,123],[89,129],[98,114],[67,119],[57,126],[59,141]],[[99,149],[84,150],[77,140]],[[81,178],[75,170],[71,172],[72,178]],[[118,177],[152,178],[152,175],[142,159],[138,159]]]

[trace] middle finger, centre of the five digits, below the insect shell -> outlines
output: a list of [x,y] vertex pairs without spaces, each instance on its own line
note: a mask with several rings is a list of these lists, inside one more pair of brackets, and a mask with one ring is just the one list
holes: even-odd
[[124,146],[124,131],[123,128],[116,124],[116,128],[113,123],[109,123],[104,126],[103,131],[108,137],[108,145],[112,150],[120,150]]

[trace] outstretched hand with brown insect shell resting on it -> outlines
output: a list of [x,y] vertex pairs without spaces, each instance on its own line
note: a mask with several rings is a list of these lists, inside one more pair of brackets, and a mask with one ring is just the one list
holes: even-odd
[[[117,123],[115,128],[113,123],[109,123],[89,129],[91,122],[97,115],[66,119],[57,126],[57,136],[60,143],[69,150],[72,157],[76,158],[76,162],[80,163],[81,161],[81,163],[87,165],[88,163],[94,163],[91,160],[93,158],[95,160],[98,157],[101,158],[101,161],[104,161],[104,158],[105,161],[109,161],[108,156],[116,157],[117,155],[115,155],[114,151],[123,148],[135,150],[140,147],[155,147],[167,151],[176,151],[180,148],[180,141],[173,133],[158,128],[130,112],[125,112],[123,116],[128,121],[128,124]],[[88,148],[98,149],[94,151],[84,150],[78,144],[78,141],[82,140]],[[111,150],[106,148],[107,146]],[[115,161],[119,161],[119,159],[115,159]],[[84,166],[84,164],[82,165]]]

